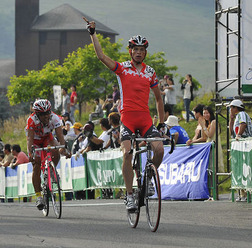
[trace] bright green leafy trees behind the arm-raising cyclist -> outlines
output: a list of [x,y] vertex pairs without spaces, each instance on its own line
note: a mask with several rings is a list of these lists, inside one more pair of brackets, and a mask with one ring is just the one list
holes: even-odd
[[[115,61],[129,60],[127,52],[121,52],[122,43],[111,43],[109,38],[98,35],[98,39],[106,55]],[[176,71],[177,67],[167,67],[163,52],[147,54],[145,62],[152,66],[157,75]],[[93,44],[78,48],[65,58],[62,65],[58,60],[48,62],[41,70],[27,70],[26,75],[13,76],[8,87],[8,98],[11,105],[34,100],[35,98],[52,98],[53,85],[69,88],[75,84],[79,103],[89,102],[96,97],[105,99],[111,92],[112,85],[117,82],[113,72],[100,62]]]

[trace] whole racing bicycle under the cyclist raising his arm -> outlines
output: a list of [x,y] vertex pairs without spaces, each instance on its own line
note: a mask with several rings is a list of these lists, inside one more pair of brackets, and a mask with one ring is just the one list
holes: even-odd
[[[160,216],[161,216],[161,187],[159,181],[159,175],[157,168],[152,162],[152,148],[151,142],[154,141],[165,141],[169,140],[171,154],[174,150],[174,137],[172,138],[141,138],[139,134],[133,134],[131,138],[131,150],[130,154],[133,153],[133,170],[135,171],[137,188],[134,189],[134,198],[137,210],[134,212],[127,211],[127,217],[129,224],[132,228],[136,228],[139,216],[140,208],[145,206],[146,217],[148,225],[152,232],[158,229]],[[139,143],[146,142],[146,147],[140,149]],[[135,147],[135,148],[134,148]],[[140,154],[147,153],[147,160],[145,167],[141,169]],[[152,185],[155,192],[150,191],[149,185]]]

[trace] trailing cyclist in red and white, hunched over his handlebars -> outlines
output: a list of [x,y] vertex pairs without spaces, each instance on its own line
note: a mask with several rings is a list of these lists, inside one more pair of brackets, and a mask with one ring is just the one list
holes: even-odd
[[[58,115],[51,111],[51,103],[46,99],[39,99],[33,104],[34,112],[28,117],[26,124],[27,135],[27,150],[29,155],[29,161],[33,164],[32,183],[36,193],[36,206],[39,210],[43,209],[44,202],[41,195],[41,152],[35,154],[35,158],[32,155],[32,145],[35,148],[45,147],[48,145],[56,146],[65,144],[61,121]],[[55,129],[55,133],[58,141],[53,137],[52,131]],[[52,150],[52,160],[57,166],[60,153],[67,155],[66,150],[61,148],[58,150]]]

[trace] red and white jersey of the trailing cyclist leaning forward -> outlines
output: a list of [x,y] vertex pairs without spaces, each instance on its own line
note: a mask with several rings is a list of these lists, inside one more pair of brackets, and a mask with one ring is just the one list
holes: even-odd
[[58,115],[51,112],[49,124],[44,126],[35,113],[31,114],[27,119],[26,124],[26,134],[28,129],[34,130],[34,142],[43,141],[46,138],[49,138],[52,134],[52,131],[61,126],[61,120]]

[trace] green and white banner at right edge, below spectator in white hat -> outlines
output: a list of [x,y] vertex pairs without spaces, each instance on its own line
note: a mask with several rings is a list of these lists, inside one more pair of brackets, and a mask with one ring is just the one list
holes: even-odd
[[231,142],[231,188],[252,190],[252,139]]

